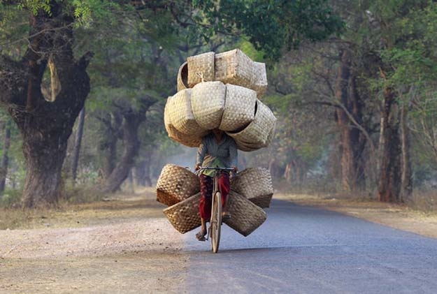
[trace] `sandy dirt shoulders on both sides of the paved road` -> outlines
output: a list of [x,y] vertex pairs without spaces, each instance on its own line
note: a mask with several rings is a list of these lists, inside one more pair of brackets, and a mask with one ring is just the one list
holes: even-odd
[[[277,193],[437,238],[437,216],[401,205]],[[187,256],[153,189],[47,212],[0,230],[0,293],[180,293]],[[0,216],[1,219],[1,216]]]

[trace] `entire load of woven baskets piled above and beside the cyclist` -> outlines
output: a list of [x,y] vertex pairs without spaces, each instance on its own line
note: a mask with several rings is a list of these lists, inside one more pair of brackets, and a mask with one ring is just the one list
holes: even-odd
[[[268,146],[275,131],[273,112],[259,99],[267,89],[265,64],[252,61],[241,50],[188,57],[178,71],[178,93],[164,110],[169,137],[188,147],[198,147],[203,136],[219,128],[234,138],[245,152]],[[164,166],[157,182],[157,200],[180,233],[201,225],[199,178],[175,165]],[[266,220],[263,208],[273,196],[271,175],[264,168],[248,168],[231,182],[224,220],[244,236]]]

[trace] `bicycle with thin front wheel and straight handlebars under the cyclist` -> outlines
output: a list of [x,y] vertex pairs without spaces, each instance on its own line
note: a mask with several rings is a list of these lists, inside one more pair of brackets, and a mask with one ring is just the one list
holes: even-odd
[[206,240],[210,237],[211,249],[214,253],[218,252],[220,245],[220,231],[222,228],[222,193],[218,189],[218,178],[222,171],[234,171],[234,168],[208,168],[199,166],[201,170],[214,170],[213,177],[213,195],[211,199],[211,217],[209,221],[209,228]]

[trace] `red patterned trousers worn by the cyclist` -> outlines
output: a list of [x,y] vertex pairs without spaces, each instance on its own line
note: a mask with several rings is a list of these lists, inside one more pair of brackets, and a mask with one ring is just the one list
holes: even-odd
[[[200,203],[199,212],[202,219],[209,220],[211,217],[211,200],[213,195],[213,185],[214,179],[208,177],[207,175],[200,175]],[[226,201],[229,194],[230,184],[229,184],[229,174],[227,172],[221,172],[218,179],[218,189],[222,194],[222,207]]]

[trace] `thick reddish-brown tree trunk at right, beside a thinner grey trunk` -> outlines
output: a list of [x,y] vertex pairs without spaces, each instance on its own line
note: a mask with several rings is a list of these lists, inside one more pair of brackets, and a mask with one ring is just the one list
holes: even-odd
[[401,202],[401,138],[399,137],[399,108],[394,91],[384,89],[384,105],[380,129],[380,176],[378,200]]

